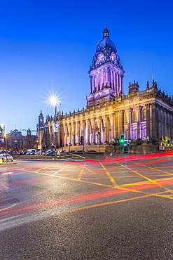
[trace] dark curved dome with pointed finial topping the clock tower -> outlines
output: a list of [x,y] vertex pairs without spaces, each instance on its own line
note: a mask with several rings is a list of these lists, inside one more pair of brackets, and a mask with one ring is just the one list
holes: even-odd
[[99,41],[99,44],[97,45],[96,52],[102,51],[104,48],[109,47],[112,51],[117,52],[116,50],[116,44],[114,44],[111,39],[109,39],[109,30],[107,29],[105,25],[105,29],[103,31],[103,39]]

